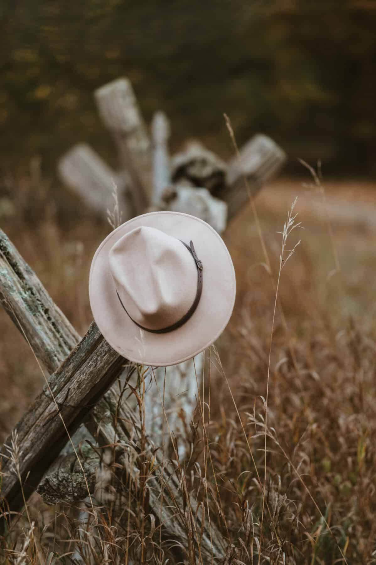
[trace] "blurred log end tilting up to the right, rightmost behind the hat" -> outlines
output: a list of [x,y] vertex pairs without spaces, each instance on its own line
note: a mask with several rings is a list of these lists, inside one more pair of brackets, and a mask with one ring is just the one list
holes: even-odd
[[232,218],[248,202],[244,177],[250,186],[252,196],[281,169],[286,161],[285,152],[270,137],[258,134],[240,150],[240,159],[235,156],[229,162],[226,186],[215,195],[228,205]]

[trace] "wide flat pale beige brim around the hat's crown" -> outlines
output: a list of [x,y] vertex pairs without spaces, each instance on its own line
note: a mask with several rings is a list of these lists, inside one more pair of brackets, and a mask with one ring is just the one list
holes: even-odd
[[[134,228],[147,226],[189,244],[203,264],[200,302],[191,318],[168,333],[140,329],[117,298],[108,255],[111,247]],[[224,331],[235,302],[235,271],[229,251],[205,221],[180,212],[150,212],[126,221],[98,247],[91,263],[89,298],[94,320],[115,351],[130,361],[155,367],[182,363],[211,345]]]

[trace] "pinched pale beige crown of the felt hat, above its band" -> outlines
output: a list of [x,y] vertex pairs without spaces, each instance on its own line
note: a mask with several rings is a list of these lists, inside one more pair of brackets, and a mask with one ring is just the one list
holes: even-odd
[[142,226],[125,234],[111,247],[109,264],[121,303],[144,328],[175,324],[195,299],[197,269],[190,251],[159,229]]

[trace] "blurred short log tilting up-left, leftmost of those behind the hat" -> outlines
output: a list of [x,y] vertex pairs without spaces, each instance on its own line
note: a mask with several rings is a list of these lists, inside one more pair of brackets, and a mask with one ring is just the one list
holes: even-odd
[[115,206],[116,190],[124,219],[132,218],[133,204],[128,195],[129,175],[113,171],[89,145],[75,145],[63,155],[58,162],[58,173],[64,184],[103,218],[107,218],[107,210],[112,211]]

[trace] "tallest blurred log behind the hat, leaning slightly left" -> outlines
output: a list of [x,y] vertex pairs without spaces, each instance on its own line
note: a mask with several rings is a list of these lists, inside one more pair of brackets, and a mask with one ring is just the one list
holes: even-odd
[[132,179],[135,215],[142,214],[151,195],[151,147],[132,84],[125,78],[114,80],[95,90],[94,97],[119,151],[121,168]]

